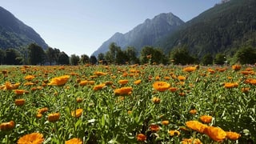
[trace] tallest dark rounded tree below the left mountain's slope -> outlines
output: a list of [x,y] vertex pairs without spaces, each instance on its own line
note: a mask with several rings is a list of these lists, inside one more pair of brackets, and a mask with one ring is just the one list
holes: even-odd
[[31,43],[30,46],[28,46],[28,54],[31,65],[37,65],[38,63],[42,65],[46,59],[45,51],[42,50],[41,46],[38,46],[35,43]]

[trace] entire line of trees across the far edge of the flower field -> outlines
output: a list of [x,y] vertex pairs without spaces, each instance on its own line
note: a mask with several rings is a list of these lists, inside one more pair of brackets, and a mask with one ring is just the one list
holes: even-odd
[[175,65],[223,65],[241,63],[255,64],[256,49],[251,45],[239,47],[233,55],[223,53],[204,54],[202,57],[190,54],[188,46],[176,46],[170,50],[169,54],[164,54],[161,48],[154,46],[144,46],[140,52],[133,46],[128,46],[122,50],[120,46],[112,42],[109,50],[103,54],[90,57],[86,54],[81,56],[71,54],[68,56],[65,52],[57,48],[48,47],[43,50],[41,46],[31,43],[27,47],[20,49],[0,49],[0,64],[2,65],[83,65],[83,64],[175,64]]

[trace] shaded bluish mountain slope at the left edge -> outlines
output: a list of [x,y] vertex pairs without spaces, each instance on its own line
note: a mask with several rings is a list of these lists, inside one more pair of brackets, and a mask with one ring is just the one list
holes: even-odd
[[46,42],[30,26],[0,6],[0,49],[19,48],[34,42],[43,49]]

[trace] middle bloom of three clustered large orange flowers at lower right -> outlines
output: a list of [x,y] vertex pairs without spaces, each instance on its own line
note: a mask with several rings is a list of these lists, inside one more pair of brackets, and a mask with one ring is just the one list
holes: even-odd
[[203,133],[216,142],[222,142],[226,138],[226,132],[220,127],[207,126]]

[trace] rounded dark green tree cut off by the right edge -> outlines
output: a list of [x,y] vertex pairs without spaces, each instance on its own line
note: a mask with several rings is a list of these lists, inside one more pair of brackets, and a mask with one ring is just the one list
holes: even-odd
[[236,62],[241,64],[254,64],[256,62],[256,50],[251,46],[243,46],[234,55]]

